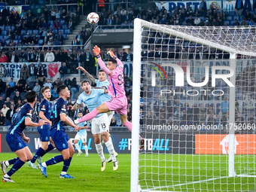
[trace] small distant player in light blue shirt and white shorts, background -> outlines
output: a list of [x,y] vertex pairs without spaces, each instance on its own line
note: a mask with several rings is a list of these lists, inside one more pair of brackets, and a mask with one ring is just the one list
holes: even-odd
[[[78,118],[83,117],[83,112],[79,111],[78,112]],[[74,139],[74,145],[75,147],[78,149],[78,155],[80,156],[83,152],[81,151],[81,148],[78,145],[78,142],[80,141],[80,139],[82,140],[82,143],[84,145],[84,151],[85,151],[85,157],[88,157],[88,148],[87,148],[87,123],[83,122],[83,123],[79,123],[78,126],[81,126],[81,130],[75,135],[75,139]]]

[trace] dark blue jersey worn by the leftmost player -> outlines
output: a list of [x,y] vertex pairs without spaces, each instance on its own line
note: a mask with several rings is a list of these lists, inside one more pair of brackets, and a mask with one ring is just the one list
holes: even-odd
[[23,105],[17,113],[17,116],[14,119],[14,123],[11,125],[9,129],[9,133],[14,134],[17,133],[20,136],[22,135],[23,130],[25,130],[25,118],[28,117],[32,120],[32,114],[34,109],[29,103]]

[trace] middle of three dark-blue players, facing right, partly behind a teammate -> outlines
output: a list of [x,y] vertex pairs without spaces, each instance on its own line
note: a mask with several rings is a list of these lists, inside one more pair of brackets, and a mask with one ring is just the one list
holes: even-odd
[[53,150],[55,148],[54,144],[48,144],[50,141],[50,111],[51,111],[51,105],[50,105],[50,87],[46,86],[41,88],[41,93],[44,96],[44,99],[41,101],[39,105],[39,117],[42,120],[45,120],[47,124],[43,126],[38,126],[38,133],[41,140],[41,148],[38,148],[38,150],[35,152],[34,157],[32,160],[29,161],[29,166],[31,166],[33,169],[37,169],[35,166],[35,160],[38,160],[38,163],[41,163],[41,159],[47,152]]

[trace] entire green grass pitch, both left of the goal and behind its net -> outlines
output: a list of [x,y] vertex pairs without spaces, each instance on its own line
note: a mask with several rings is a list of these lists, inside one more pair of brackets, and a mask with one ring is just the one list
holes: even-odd
[[[54,155],[46,154],[43,160]],[[101,172],[98,154],[90,154],[89,157],[76,155],[69,168],[69,174],[75,179],[59,178],[62,163],[47,168],[48,178],[26,163],[12,176],[15,183],[2,182],[0,191],[130,191],[130,154],[119,154],[116,172],[112,163],[107,164],[105,172]],[[13,157],[13,153],[0,153],[0,160]],[[236,155],[236,173],[255,175],[254,160],[254,156]],[[227,162],[227,155],[141,154],[140,184],[142,189],[156,187],[156,190],[170,191],[256,191],[255,178],[228,178]],[[211,181],[211,178],[217,179]]]

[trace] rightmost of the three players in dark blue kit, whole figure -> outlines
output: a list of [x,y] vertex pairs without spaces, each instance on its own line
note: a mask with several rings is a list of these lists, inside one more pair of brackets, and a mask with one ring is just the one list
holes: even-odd
[[65,132],[64,123],[69,126],[73,126],[75,130],[81,130],[80,126],[77,126],[73,123],[73,121],[66,115],[67,112],[67,99],[70,97],[70,91],[68,87],[65,85],[61,85],[57,88],[57,93],[59,94],[59,99],[56,100],[55,104],[53,105],[53,120],[52,125],[50,126],[50,136],[53,139],[53,142],[56,148],[60,151],[61,155],[51,158],[44,163],[38,164],[41,172],[45,177],[46,174],[46,167],[62,162],[63,168],[62,172],[59,175],[60,178],[74,178],[67,174],[69,169],[69,165],[72,160],[72,156],[75,153],[75,150],[72,146],[72,142],[69,139],[69,136]]

